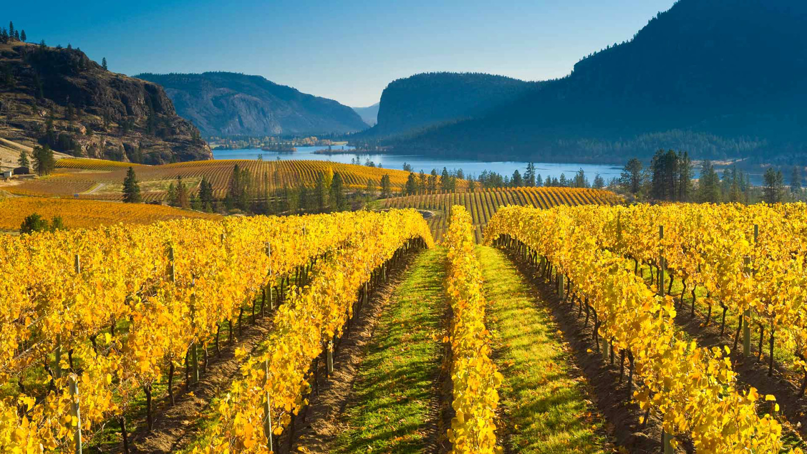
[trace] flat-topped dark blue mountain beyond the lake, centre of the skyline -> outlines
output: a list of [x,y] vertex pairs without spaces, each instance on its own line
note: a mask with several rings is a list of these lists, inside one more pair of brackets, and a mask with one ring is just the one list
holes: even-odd
[[398,79],[381,94],[378,124],[358,137],[411,134],[479,116],[537,86],[536,82],[481,73],[424,73]]

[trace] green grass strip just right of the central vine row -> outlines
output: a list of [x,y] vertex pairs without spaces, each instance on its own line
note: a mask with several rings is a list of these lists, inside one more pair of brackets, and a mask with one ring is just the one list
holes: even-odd
[[546,304],[503,252],[479,247],[477,254],[494,359],[504,375],[499,425],[510,434],[509,452],[613,452]]

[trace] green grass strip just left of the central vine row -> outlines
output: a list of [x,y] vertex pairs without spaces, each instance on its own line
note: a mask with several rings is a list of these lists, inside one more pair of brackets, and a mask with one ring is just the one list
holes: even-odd
[[395,288],[341,417],[345,431],[329,452],[424,452],[432,441],[425,427],[435,417],[444,280],[445,250],[437,248],[420,254]]

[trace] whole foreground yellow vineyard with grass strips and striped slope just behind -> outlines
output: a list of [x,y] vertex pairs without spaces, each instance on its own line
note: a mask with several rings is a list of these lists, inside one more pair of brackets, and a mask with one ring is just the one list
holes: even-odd
[[418,197],[0,237],[0,451],[805,448],[807,205]]

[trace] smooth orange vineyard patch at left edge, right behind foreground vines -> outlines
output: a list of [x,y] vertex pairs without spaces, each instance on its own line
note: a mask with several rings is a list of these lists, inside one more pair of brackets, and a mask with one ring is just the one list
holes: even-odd
[[100,225],[151,224],[183,217],[220,219],[217,214],[149,204],[118,204],[101,200],[45,199],[10,197],[0,199],[0,230],[19,229],[26,216],[37,213],[50,220],[61,216],[68,229],[88,229]]

